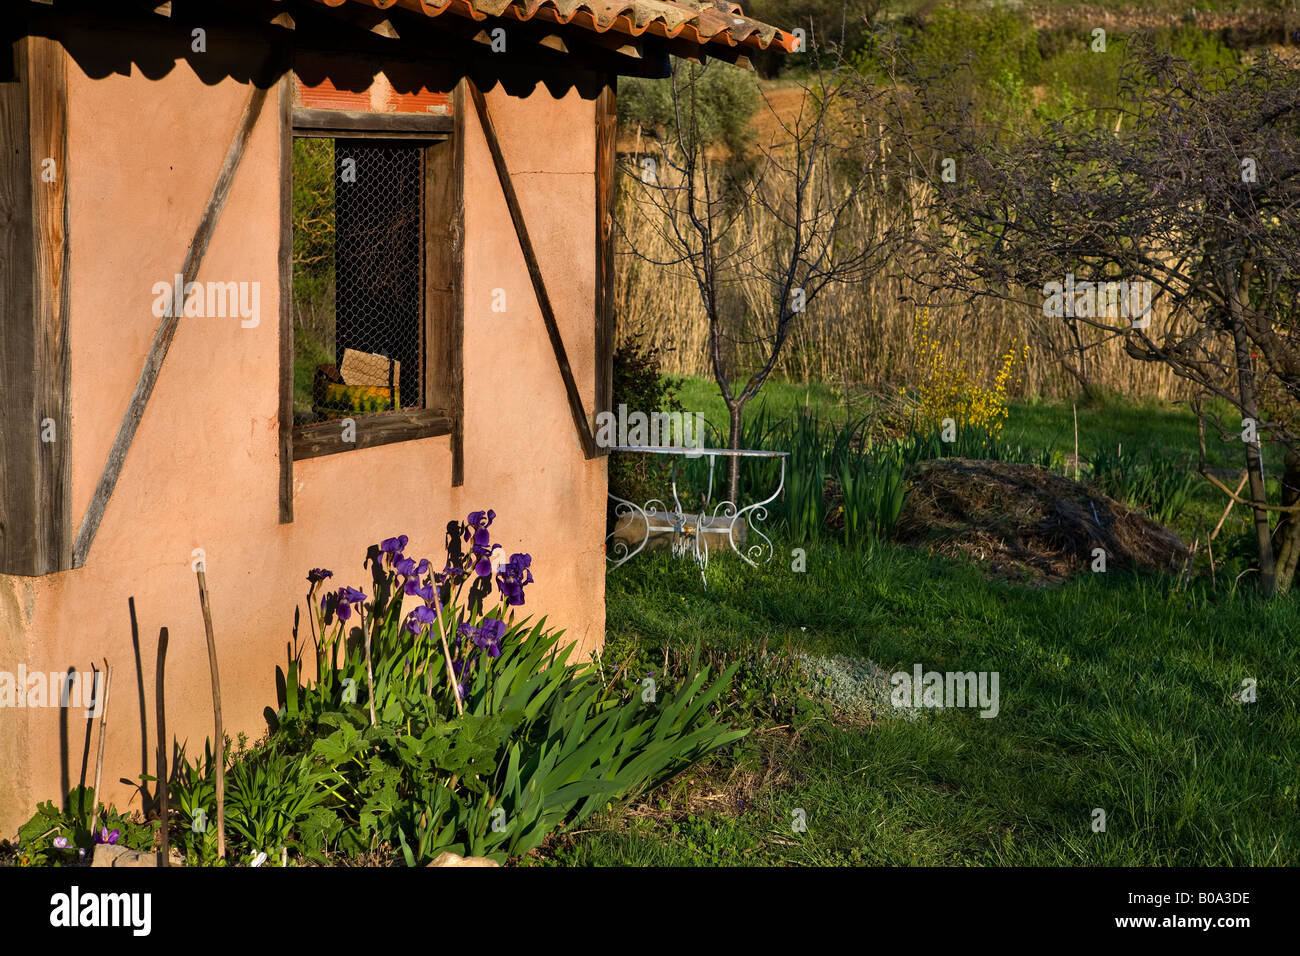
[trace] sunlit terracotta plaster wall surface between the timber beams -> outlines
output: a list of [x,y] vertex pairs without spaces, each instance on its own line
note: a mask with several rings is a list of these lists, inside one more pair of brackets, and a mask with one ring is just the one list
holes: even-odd
[[[181,267],[248,87],[186,62],[160,78],[92,78],[69,61],[72,434],[79,523],[159,320],[152,286]],[[594,401],[594,107],[538,85],[488,94],[532,226],[569,360]],[[84,567],[0,576],[0,667],[114,667],[104,796],[138,808],[155,773],[153,680],[169,631],[168,732],[202,752],[212,732],[208,659],[191,553],[212,593],[226,732],[257,739],[274,705],[306,572],[369,591],[369,545],[404,533],[442,558],[448,520],[495,509],[494,540],[533,555],[523,610],[566,628],[585,656],[604,630],[606,462],[584,460],[482,131],[467,117],[465,449],[450,438],[296,462],[292,524],[278,523],[277,94],[268,98],[198,276],[260,284],[260,323],[182,319]],[[506,311],[494,312],[495,290]],[[499,302],[499,298],[495,299]],[[134,609],[134,617],[133,617]],[[304,624],[306,632],[306,624]],[[66,739],[61,723],[66,719]],[[0,834],[91,770],[82,711],[0,709]],[[94,735],[90,737],[94,743]],[[90,747],[92,753],[94,747]],[[66,770],[65,770],[66,767]],[[87,784],[90,780],[86,780]]]

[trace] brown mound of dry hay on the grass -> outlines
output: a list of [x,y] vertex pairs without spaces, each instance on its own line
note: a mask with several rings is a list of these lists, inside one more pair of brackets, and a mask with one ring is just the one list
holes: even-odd
[[945,458],[911,479],[894,540],[962,555],[1008,580],[1060,583],[1092,567],[1178,571],[1182,540],[1086,485],[1013,462]]

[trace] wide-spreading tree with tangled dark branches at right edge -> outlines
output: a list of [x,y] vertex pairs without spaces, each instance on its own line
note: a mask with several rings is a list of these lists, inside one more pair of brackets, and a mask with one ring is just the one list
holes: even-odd
[[[894,120],[914,170],[930,176],[936,155],[959,170],[928,211],[941,285],[1045,313],[1058,297],[1075,333],[1121,336],[1134,359],[1234,406],[1240,427],[1219,431],[1243,440],[1249,497],[1208,470],[1204,442],[1201,473],[1253,510],[1261,591],[1287,589],[1300,561],[1300,73],[1265,55],[1201,74],[1139,43],[1119,105],[1011,137],[958,118],[941,83],[910,83],[907,100]],[[1135,284],[1167,321],[1115,307]],[[1280,503],[1268,501],[1269,445],[1284,454]]]

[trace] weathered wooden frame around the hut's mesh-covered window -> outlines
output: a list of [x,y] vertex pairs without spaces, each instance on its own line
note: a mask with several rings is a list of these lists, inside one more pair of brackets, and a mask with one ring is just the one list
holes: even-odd
[[[399,441],[451,437],[454,486],[463,484],[463,176],[462,95],[454,114],[364,113],[292,105],[294,74],[281,88],[281,522],[292,520],[292,462]],[[425,341],[421,407],[358,415],[356,441],[339,420],[294,425],[292,143],[298,138],[393,140],[424,153],[421,209],[421,329]]]

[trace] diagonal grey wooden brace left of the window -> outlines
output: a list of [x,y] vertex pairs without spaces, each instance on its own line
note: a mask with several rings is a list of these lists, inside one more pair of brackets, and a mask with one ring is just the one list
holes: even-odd
[[[254,83],[254,88],[248,94],[248,101],[244,104],[243,113],[239,117],[239,126],[235,129],[230,148],[226,150],[226,157],[212,187],[212,195],[208,196],[208,204],[203,209],[199,226],[190,241],[185,263],[181,265],[179,274],[185,285],[194,281],[199,273],[199,265],[203,264],[203,256],[208,251],[208,242],[212,239],[212,233],[217,228],[217,220],[221,219],[221,211],[225,208],[226,198],[230,195],[230,187],[234,183],[235,172],[239,169],[239,161],[243,159],[244,148],[248,146],[248,138],[252,135],[257,117],[261,116],[261,108],[266,103],[266,86]],[[182,285],[182,291],[183,287]],[[73,567],[81,567],[86,563],[90,548],[95,542],[95,535],[99,531],[100,522],[104,519],[108,501],[113,496],[117,480],[122,475],[122,467],[126,464],[126,453],[130,450],[131,442],[135,440],[135,432],[144,418],[144,408],[150,402],[150,395],[153,394],[153,386],[157,384],[159,373],[162,371],[162,360],[166,359],[168,350],[172,347],[172,339],[176,337],[179,321],[181,316],[178,315],[164,316],[162,321],[159,323],[157,330],[153,333],[153,343],[150,346],[150,352],[144,359],[144,368],[140,369],[139,381],[135,382],[135,392],[126,406],[122,424],[117,431],[117,437],[113,440],[113,446],[108,451],[104,471],[99,477],[99,484],[95,486],[95,494],[91,497],[86,516],[82,519],[81,531],[77,533],[77,542],[73,548]]]

